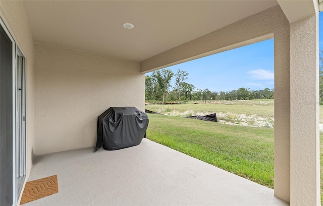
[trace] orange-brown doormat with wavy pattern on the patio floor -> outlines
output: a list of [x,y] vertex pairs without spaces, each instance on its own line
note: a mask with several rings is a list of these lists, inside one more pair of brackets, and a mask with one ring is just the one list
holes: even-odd
[[33,180],[26,183],[20,204],[24,204],[59,192],[57,175]]

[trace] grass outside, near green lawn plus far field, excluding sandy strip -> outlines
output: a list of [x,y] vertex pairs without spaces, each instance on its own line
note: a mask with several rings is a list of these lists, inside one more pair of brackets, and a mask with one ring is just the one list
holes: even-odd
[[[242,117],[253,115],[271,120],[274,117],[273,100],[146,105],[146,109],[176,115],[149,114],[148,139],[259,184],[274,187],[274,128],[256,124],[253,127],[239,123],[233,125],[228,119],[216,123],[179,117],[215,112],[217,116],[218,113],[243,114]],[[320,123],[323,123],[323,109],[320,117]],[[322,134],[320,141],[323,141]],[[322,144],[320,149],[322,191]]]

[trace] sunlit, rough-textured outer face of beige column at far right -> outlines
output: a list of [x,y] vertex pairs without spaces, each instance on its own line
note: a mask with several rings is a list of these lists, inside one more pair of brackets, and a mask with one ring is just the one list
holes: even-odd
[[316,13],[290,24],[291,205],[320,205],[318,91]]

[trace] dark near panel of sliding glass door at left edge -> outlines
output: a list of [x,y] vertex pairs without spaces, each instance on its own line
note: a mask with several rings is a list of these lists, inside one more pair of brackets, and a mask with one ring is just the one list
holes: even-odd
[[0,25],[0,205],[15,202],[15,46]]

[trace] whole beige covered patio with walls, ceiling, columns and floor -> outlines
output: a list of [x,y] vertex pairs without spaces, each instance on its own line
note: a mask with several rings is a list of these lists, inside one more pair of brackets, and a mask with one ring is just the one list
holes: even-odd
[[[0,0],[0,204],[18,205],[26,181],[56,173],[60,192],[28,205],[319,205],[320,7]],[[91,153],[99,114],[144,111],[145,73],[271,38],[275,190],[148,140]]]

